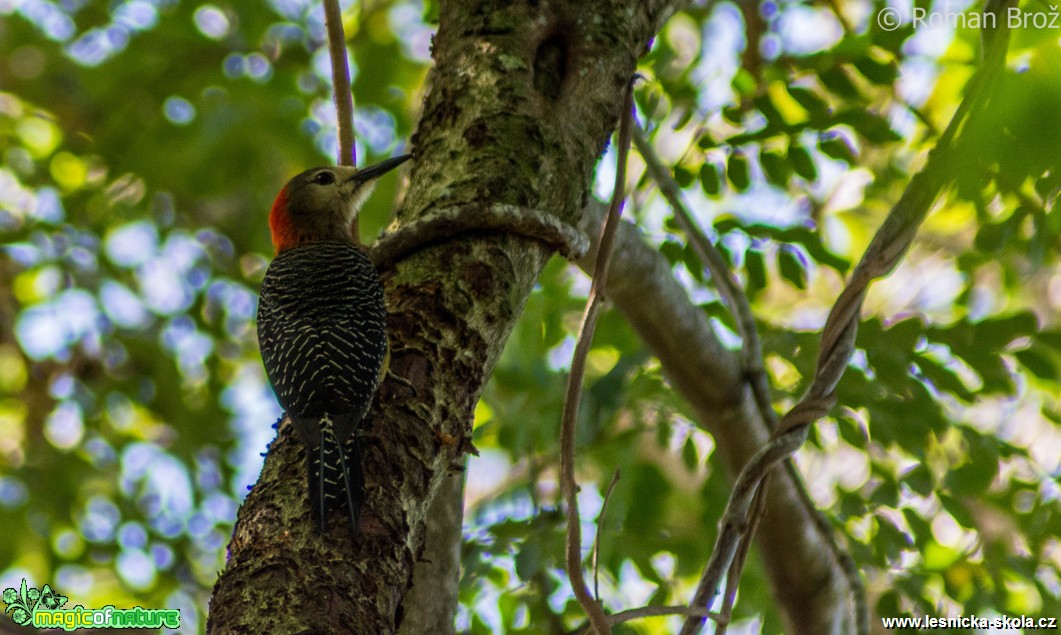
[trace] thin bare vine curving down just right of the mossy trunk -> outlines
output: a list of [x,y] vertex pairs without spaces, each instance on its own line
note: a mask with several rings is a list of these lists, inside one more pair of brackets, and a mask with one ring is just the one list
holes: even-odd
[[615,187],[612,190],[608,217],[601,230],[601,246],[597,250],[596,264],[593,268],[593,281],[590,286],[589,299],[586,303],[586,312],[582,314],[578,342],[575,344],[574,357],[571,360],[571,375],[568,378],[568,393],[563,401],[563,419],[560,424],[560,487],[568,505],[568,579],[571,581],[575,598],[582,605],[582,610],[589,616],[590,623],[597,635],[610,634],[611,627],[601,604],[590,596],[589,589],[586,587],[586,579],[582,576],[581,522],[578,517],[578,484],[575,483],[575,427],[582,393],[582,377],[586,374],[586,357],[589,355],[593,341],[593,330],[596,327],[604,287],[608,279],[611,251],[615,244],[615,230],[623,213],[626,156],[630,148],[630,127],[633,123],[632,80],[626,87],[621,117],[618,156],[615,157]]

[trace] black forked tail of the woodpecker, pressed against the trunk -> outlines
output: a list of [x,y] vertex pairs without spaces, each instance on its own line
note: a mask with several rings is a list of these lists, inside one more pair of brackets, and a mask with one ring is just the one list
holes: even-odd
[[328,527],[328,514],[346,508],[351,531],[356,534],[364,502],[365,477],[361,467],[361,444],[356,434],[340,443],[331,426],[321,426],[320,445],[307,456],[310,503],[320,532]]

